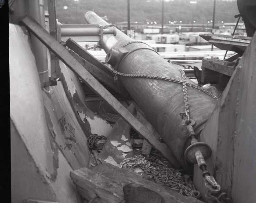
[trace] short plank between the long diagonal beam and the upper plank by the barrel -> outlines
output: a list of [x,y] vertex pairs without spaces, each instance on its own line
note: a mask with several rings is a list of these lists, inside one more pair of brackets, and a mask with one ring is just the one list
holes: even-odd
[[98,81],[102,82],[104,85],[109,86],[114,91],[120,93],[122,96],[127,97],[129,93],[121,85],[118,87],[117,82],[114,82],[113,75],[107,74],[105,71],[94,66],[90,62],[86,61],[82,57],[78,56],[74,51],[69,50],[69,53],[86,69],[91,73]]

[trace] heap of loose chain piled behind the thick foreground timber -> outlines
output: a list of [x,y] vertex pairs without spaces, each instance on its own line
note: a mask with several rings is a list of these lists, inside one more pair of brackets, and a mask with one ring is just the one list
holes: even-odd
[[[199,198],[200,192],[195,189],[192,181],[188,175],[182,176],[181,173],[173,168],[168,168],[160,160],[155,160],[158,166],[153,166],[153,163],[146,160],[141,155],[126,158],[120,165],[121,168],[128,168],[134,170],[140,167],[148,177],[156,183],[171,187],[172,190],[179,190],[179,193],[186,196],[193,196]],[[154,163],[154,164],[155,164]]]

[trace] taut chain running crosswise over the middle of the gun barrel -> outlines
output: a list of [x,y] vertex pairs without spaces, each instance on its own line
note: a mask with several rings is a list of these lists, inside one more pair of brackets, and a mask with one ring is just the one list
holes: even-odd
[[[122,76],[122,77],[158,79],[158,80],[166,80],[166,81],[170,81],[170,82],[173,82],[173,83],[183,84],[182,80],[177,80],[177,79],[169,78],[169,77],[154,76],[154,75],[125,74],[125,73],[122,73],[122,72],[118,72],[116,70],[112,70],[112,72],[113,72],[113,74],[119,75],[119,76]],[[194,84],[191,84],[191,83],[186,83],[186,85],[189,86],[189,87],[192,87],[194,89],[197,89],[199,91],[202,91],[203,93],[205,93],[205,94],[211,96],[212,98],[218,100],[218,97],[212,95],[208,90],[206,90],[206,89],[204,89],[204,88],[202,88],[198,85],[194,85]]]

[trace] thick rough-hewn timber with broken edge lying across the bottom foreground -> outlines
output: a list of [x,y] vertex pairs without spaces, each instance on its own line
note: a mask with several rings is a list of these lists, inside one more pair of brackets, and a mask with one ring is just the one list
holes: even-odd
[[90,169],[80,168],[70,172],[70,176],[79,193],[87,201],[98,196],[95,202],[201,202],[111,164],[101,164]]

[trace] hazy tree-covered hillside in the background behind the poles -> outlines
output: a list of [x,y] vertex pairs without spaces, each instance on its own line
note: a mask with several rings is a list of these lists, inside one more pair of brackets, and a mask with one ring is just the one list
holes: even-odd
[[[127,21],[127,0],[56,0],[57,18],[61,23],[76,23],[76,3],[78,23],[85,23],[84,14],[94,11],[110,23]],[[130,0],[131,21],[156,21],[161,23],[161,1]],[[196,23],[207,23],[212,20],[213,0],[197,0],[191,4],[190,0],[173,0],[164,2],[164,23],[182,21],[191,23],[192,16]],[[64,9],[66,8],[66,9]],[[236,22],[238,14],[236,1],[216,0],[216,23]]]

